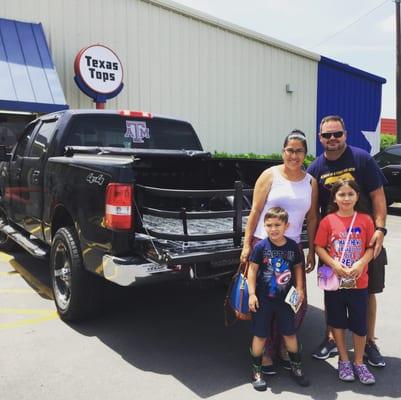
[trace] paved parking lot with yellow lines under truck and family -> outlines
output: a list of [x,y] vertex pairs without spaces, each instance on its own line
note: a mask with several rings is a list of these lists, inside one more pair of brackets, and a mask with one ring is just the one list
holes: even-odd
[[20,251],[0,253],[0,399],[401,398],[401,205],[389,211],[377,322],[387,366],[373,370],[373,387],[339,382],[336,358],[310,357],[323,333],[314,273],[300,333],[312,385],[299,388],[280,371],[258,394],[248,383],[248,325],[224,327],[222,285],[109,287],[102,316],[67,325],[55,311],[47,264]]

